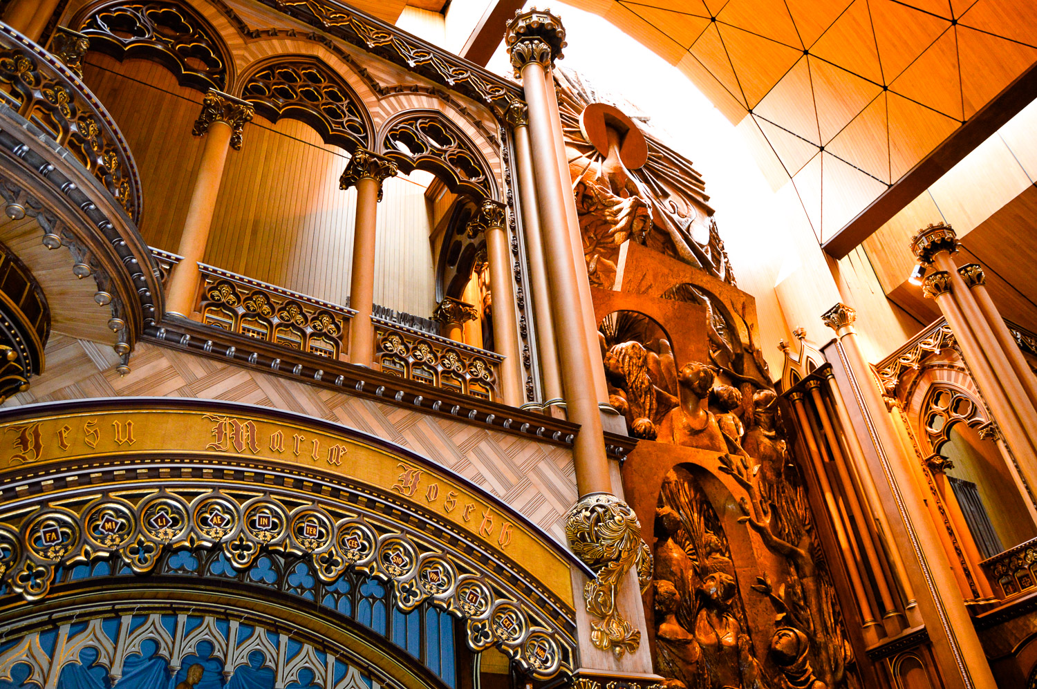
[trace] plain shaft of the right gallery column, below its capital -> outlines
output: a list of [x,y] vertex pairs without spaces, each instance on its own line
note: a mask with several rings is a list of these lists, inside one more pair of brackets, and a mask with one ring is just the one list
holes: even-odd
[[493,294],[494,348],[504,356],[500,368],[503,402],[522,406],[525,396],[522,383],[522,355],[518,352],[518,327],[515,325],[515,294],[511,279],[511,253],[507,231],[503,227],[487,227],[486,258],[489,261],[489,292]]

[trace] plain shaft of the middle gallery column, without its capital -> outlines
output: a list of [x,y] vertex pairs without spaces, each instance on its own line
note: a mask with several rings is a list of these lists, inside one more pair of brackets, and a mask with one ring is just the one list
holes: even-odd
[[357,223],[353,235],[353,274],[349,276],[349,362],[371,366],[374,360],[374,241],[377,228],[379,190],[382,183],[362,177],[357,185]]

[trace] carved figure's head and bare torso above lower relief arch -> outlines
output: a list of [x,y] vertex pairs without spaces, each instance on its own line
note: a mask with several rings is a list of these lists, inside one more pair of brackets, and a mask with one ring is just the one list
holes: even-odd
[[727,452],[727,442],[709,411],[709,389],[713,372],[704,364],[684,364],[677,373],[680,403],[663,419],[658,439],[663,442]]

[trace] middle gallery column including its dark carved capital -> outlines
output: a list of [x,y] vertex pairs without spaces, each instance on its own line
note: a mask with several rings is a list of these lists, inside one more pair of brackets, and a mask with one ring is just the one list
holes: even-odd
[[349,363],[370,368],[374,361],[374,243],[382,182],[396,176],[396,164],[364,148],[353,151],[338,188],[357,188],[357,219],[353,233],[349,276]]

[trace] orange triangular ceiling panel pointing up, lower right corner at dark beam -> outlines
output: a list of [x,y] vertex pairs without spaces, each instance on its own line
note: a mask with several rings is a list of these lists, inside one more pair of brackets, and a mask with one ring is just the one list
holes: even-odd
[[961,121],[958,41],[949,27],[932,46],[890,84],[890,90]]

